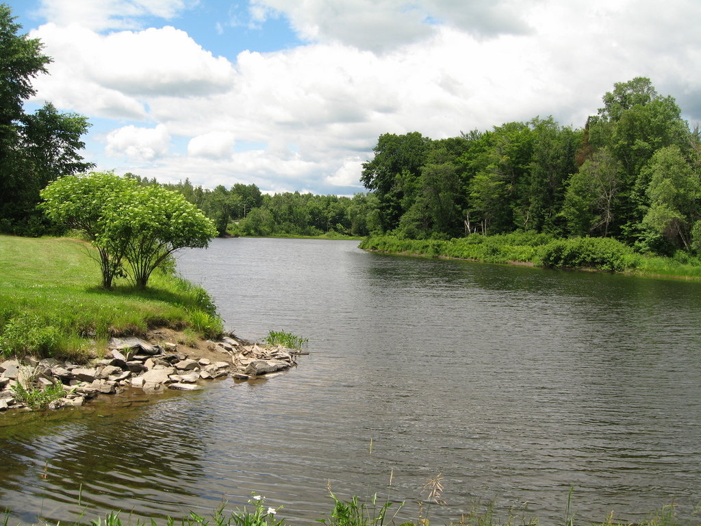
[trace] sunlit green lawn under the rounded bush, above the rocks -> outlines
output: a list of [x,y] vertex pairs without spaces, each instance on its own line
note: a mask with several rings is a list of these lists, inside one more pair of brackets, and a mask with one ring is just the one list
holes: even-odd
[[207,293],[172,272],[149,288],[100,285],[88,243],[0,236],[0,357],[24,354],[86,360],[116,335],[158,326],[214,337],[222,321]]

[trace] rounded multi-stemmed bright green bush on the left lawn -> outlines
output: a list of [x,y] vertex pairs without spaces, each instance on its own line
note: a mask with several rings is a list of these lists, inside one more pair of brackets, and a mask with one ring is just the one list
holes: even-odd
[[114,173],[61,177],[41,197],[49,217],[82,230],[95,245],[104,288],[122,275],[124,261],[137,288],[145,288],[172,252],[205,247],[217,234],[212,221],[182,194]]

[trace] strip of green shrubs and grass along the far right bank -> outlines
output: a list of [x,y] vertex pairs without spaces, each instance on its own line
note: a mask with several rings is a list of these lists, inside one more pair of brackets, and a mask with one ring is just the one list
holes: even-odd
[[677,252],[674,257],[644,255],[611,238],[556,239],[547,234],[472,234],[449,241],[369,237],[360,248],[390,254],[451,257],[488,263],[536,267],[596,269],[641,276],[701,278],[701,259]]

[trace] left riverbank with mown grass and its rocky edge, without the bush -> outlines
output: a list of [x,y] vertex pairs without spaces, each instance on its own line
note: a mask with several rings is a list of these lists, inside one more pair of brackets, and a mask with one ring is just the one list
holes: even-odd
[[296,365],[298,351],[224,335],[207,292],[171,270],[147,290],[97,288],[91,250],[0,236],[0,411],[79,406],[134,387],[193,390]]

